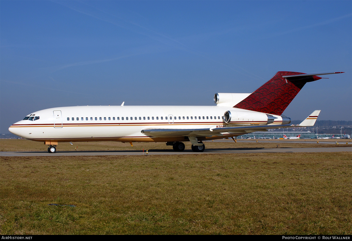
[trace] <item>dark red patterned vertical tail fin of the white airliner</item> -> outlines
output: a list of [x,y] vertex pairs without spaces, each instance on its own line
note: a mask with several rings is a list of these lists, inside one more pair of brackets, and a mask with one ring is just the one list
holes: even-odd
[[297,74],[304,73],[288,71],[277,72],[268,82],[260,86],[256,91],[234,107],[281,115],[293,98],[295,98],[298,92],[303,88],[304,84],[321,79],[321,77],[318,76],[282,77]]

